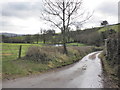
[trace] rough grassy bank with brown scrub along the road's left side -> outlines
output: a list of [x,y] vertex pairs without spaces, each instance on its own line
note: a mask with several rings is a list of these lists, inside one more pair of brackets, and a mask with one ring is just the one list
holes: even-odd
[[67,49],[68,55],[65,55],[62,47],[32,46],[21,59],[3,61],[3,79],[37,74],[72,64],[92,52],[94,47],[69,46]]

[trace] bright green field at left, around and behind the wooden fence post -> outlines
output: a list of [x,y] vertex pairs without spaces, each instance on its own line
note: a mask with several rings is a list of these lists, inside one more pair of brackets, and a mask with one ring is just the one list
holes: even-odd
[[15,43],[2,43],[2,60],[15,60],[19,55],[19,48],[22,45],[21,56],[25,56],[27,50],[31,46],[42,46],[42,44],[15,44]]

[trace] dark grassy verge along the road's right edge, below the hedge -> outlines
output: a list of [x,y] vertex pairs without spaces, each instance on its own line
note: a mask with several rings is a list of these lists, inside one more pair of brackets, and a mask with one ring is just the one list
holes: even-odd
[[111,61],[105,58],[105,52],[100,54],[104,74],[105,88],[118,88],[118,65],[113,66]]

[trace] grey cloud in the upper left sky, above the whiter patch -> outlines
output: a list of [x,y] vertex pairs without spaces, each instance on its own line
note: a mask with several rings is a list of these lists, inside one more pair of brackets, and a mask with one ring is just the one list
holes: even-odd
[[29,17],[39,14],[42,8],[41,2],[31,4],[30,2],[7,3],[2,6],[2,16],[7,17]]

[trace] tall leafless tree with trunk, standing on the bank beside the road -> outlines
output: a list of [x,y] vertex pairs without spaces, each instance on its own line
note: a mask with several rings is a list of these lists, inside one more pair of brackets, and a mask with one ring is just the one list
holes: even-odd
[[[61,30],[62,43],[64,53],[67,54],[66,48],[66,33],[69,31],[70,25],[74,25],[77,18],[83,18],[85,11],[82,11],[82,0],[44,0],[44,12],[41,14],[42,19],[52,23]],[[83,23],[91,17],[89,13],[86,14],[85,19],[79,21]]]

